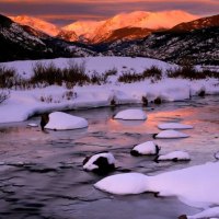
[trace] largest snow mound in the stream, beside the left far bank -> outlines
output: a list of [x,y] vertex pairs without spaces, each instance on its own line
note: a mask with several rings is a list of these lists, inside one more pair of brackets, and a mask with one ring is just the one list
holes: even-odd
[[78,116],[72,116],[62,112],[49,114],[49,122],[45,126],[47,129],[70,130],[88,127],[88,120]]

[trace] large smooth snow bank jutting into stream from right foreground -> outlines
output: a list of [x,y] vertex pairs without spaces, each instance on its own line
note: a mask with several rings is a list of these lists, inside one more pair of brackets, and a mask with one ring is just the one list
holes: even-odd
[[195,165],[155,176],[140,173],[118,174],[105,177],[94,186],[118,194],[159,193],[161,196],[177,196],[195,207],[219,205],[219,162]]

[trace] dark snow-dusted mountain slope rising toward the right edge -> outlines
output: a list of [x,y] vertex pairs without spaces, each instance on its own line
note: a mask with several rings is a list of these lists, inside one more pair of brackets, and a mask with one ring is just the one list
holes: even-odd
[[219,25],[215,22],[218,20],[219,15],[205,18],[153,33],[145,39],[110,44],[105,55],[145,56],[176,64],[189,59],[194,64],[219,65]]

